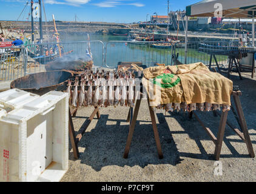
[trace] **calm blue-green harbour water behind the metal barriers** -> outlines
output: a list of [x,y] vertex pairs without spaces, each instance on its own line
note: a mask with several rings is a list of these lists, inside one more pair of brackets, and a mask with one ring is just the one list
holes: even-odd
[[[101,66],[106,63],[108,67],[116,67],[118,62],[133,61],[143,62],[148,67],[154,65],[156,62],[161,64],[172,64],[172,49],[155,49],[150,47],[150,42],[146,44],[130,44],[127,42],[126,36],[113,36],[113,35],[96,35],[90,34],[91,42],[90,48],[95,65]],[[62,33],[61,42],[80,42],[88,41],[87,33]],[[83,43],[70,43],[63,45],[65,52],[72,50],[72,55],[86,55],[88,48],[87,42]],[[106,53],[106,55],[104,55]],[[184,47],[177,48],[178,60],[184,62]],[[203,62],[209,64],[210,55],[198,52],[197,46],[190,44],[187,53],[188,63]],[[226,56],[217,56],[217,61],[225,61]]]

